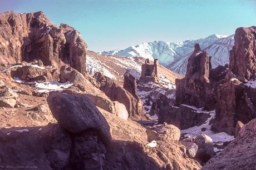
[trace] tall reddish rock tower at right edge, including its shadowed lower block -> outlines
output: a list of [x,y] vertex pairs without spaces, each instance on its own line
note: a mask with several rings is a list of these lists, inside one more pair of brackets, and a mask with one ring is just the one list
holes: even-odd
[[215,131],[235,134],[238,121],[248,123],[256,118],[256,89],[246,84],[247,81],[253,81],[256,74],[255,42],[256,27],[241,27],[235,31],[229,71],[226,71],[225,80],[216,88]]

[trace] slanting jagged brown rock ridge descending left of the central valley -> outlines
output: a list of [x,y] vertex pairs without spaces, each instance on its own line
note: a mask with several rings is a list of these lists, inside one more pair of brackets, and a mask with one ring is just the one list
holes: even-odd
[[129,116],[142,116],[144,108],[140,99],[136,99],[126,89],[118,86],[112,79],[97,72],[94,76],[100,83],[100,90],[103,91],[111,101],[118,101],[125,105]]

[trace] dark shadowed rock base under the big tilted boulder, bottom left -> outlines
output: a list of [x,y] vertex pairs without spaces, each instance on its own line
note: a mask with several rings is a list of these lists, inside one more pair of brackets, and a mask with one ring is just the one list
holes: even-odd
[[102,169],[106,153],[94,129],[70,134],[58,124],[1,129],[0,143],[1,169]]

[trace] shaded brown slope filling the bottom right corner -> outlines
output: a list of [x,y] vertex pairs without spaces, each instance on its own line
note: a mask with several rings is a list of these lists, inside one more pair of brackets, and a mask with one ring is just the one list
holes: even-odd
[[256,119],[245,124],[237,138],[215,157],[211,158],[204,170],[212,169],[255,169],[256,168]]

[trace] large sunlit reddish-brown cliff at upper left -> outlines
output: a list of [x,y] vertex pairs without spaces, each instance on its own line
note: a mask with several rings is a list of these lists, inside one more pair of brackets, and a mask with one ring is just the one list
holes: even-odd
[[43,12],[0,14],[0,62],[41,59],[45,66],[71,66],[84,74],[86,43],[66,24],[55,26]]

